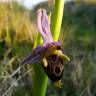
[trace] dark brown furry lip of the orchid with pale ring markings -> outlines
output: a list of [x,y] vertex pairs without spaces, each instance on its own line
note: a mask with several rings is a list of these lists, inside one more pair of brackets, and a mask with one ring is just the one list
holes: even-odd
[[47,67],[43,67],[46,74],[52,81],[57,81],[62,78],[64,65],[63,60],[56,54],[51,54],[46,58]]

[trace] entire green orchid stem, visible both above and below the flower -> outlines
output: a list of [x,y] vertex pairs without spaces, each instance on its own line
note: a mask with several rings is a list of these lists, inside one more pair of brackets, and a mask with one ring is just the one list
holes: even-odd
[[[55,41],[58,40],[60,27],[62,23],[63,17],[63,8],[64,8],[64,0],[55,0],[55,10],[53,13],[52,20],[52,35]],[[41,38],[38,37],[36,44],[42,44]],[[34,68],[34,76],[33,76],[33,96],[45,96],[46,88],[48,83],[48,77],[46,76],[42,66],[40,64],[33,65]]]

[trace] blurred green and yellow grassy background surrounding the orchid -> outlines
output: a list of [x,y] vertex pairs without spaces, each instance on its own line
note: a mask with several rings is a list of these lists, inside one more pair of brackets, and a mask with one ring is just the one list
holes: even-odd
[[[54,10],[53,4],[42,2],[27,9],[17,2],[0,2],[0,96],[32,96],[30,65],[20,67],[21,60],[33,48],[38,31],[36,11]],[[46,96],[96,96],[96,3],[65,3],[59,41],[71,58],[65,64],[62,88],[49,80]]]

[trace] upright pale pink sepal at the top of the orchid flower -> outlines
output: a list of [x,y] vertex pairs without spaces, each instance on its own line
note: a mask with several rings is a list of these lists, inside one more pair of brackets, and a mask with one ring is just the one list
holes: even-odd
[[53,42],[53,38],[50,32],[50,22],[48,21],[48,16],[46,10],[39,9],[37,12],[37,25],[40,34],[42,35],[44,45]]

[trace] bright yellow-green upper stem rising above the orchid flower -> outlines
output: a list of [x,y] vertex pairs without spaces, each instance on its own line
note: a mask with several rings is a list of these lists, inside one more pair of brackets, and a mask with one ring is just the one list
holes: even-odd
[[55,0],[54,13],[52,17],[51,32],[54,41],[58,41],[62,18],[63,18],[64,0]]

